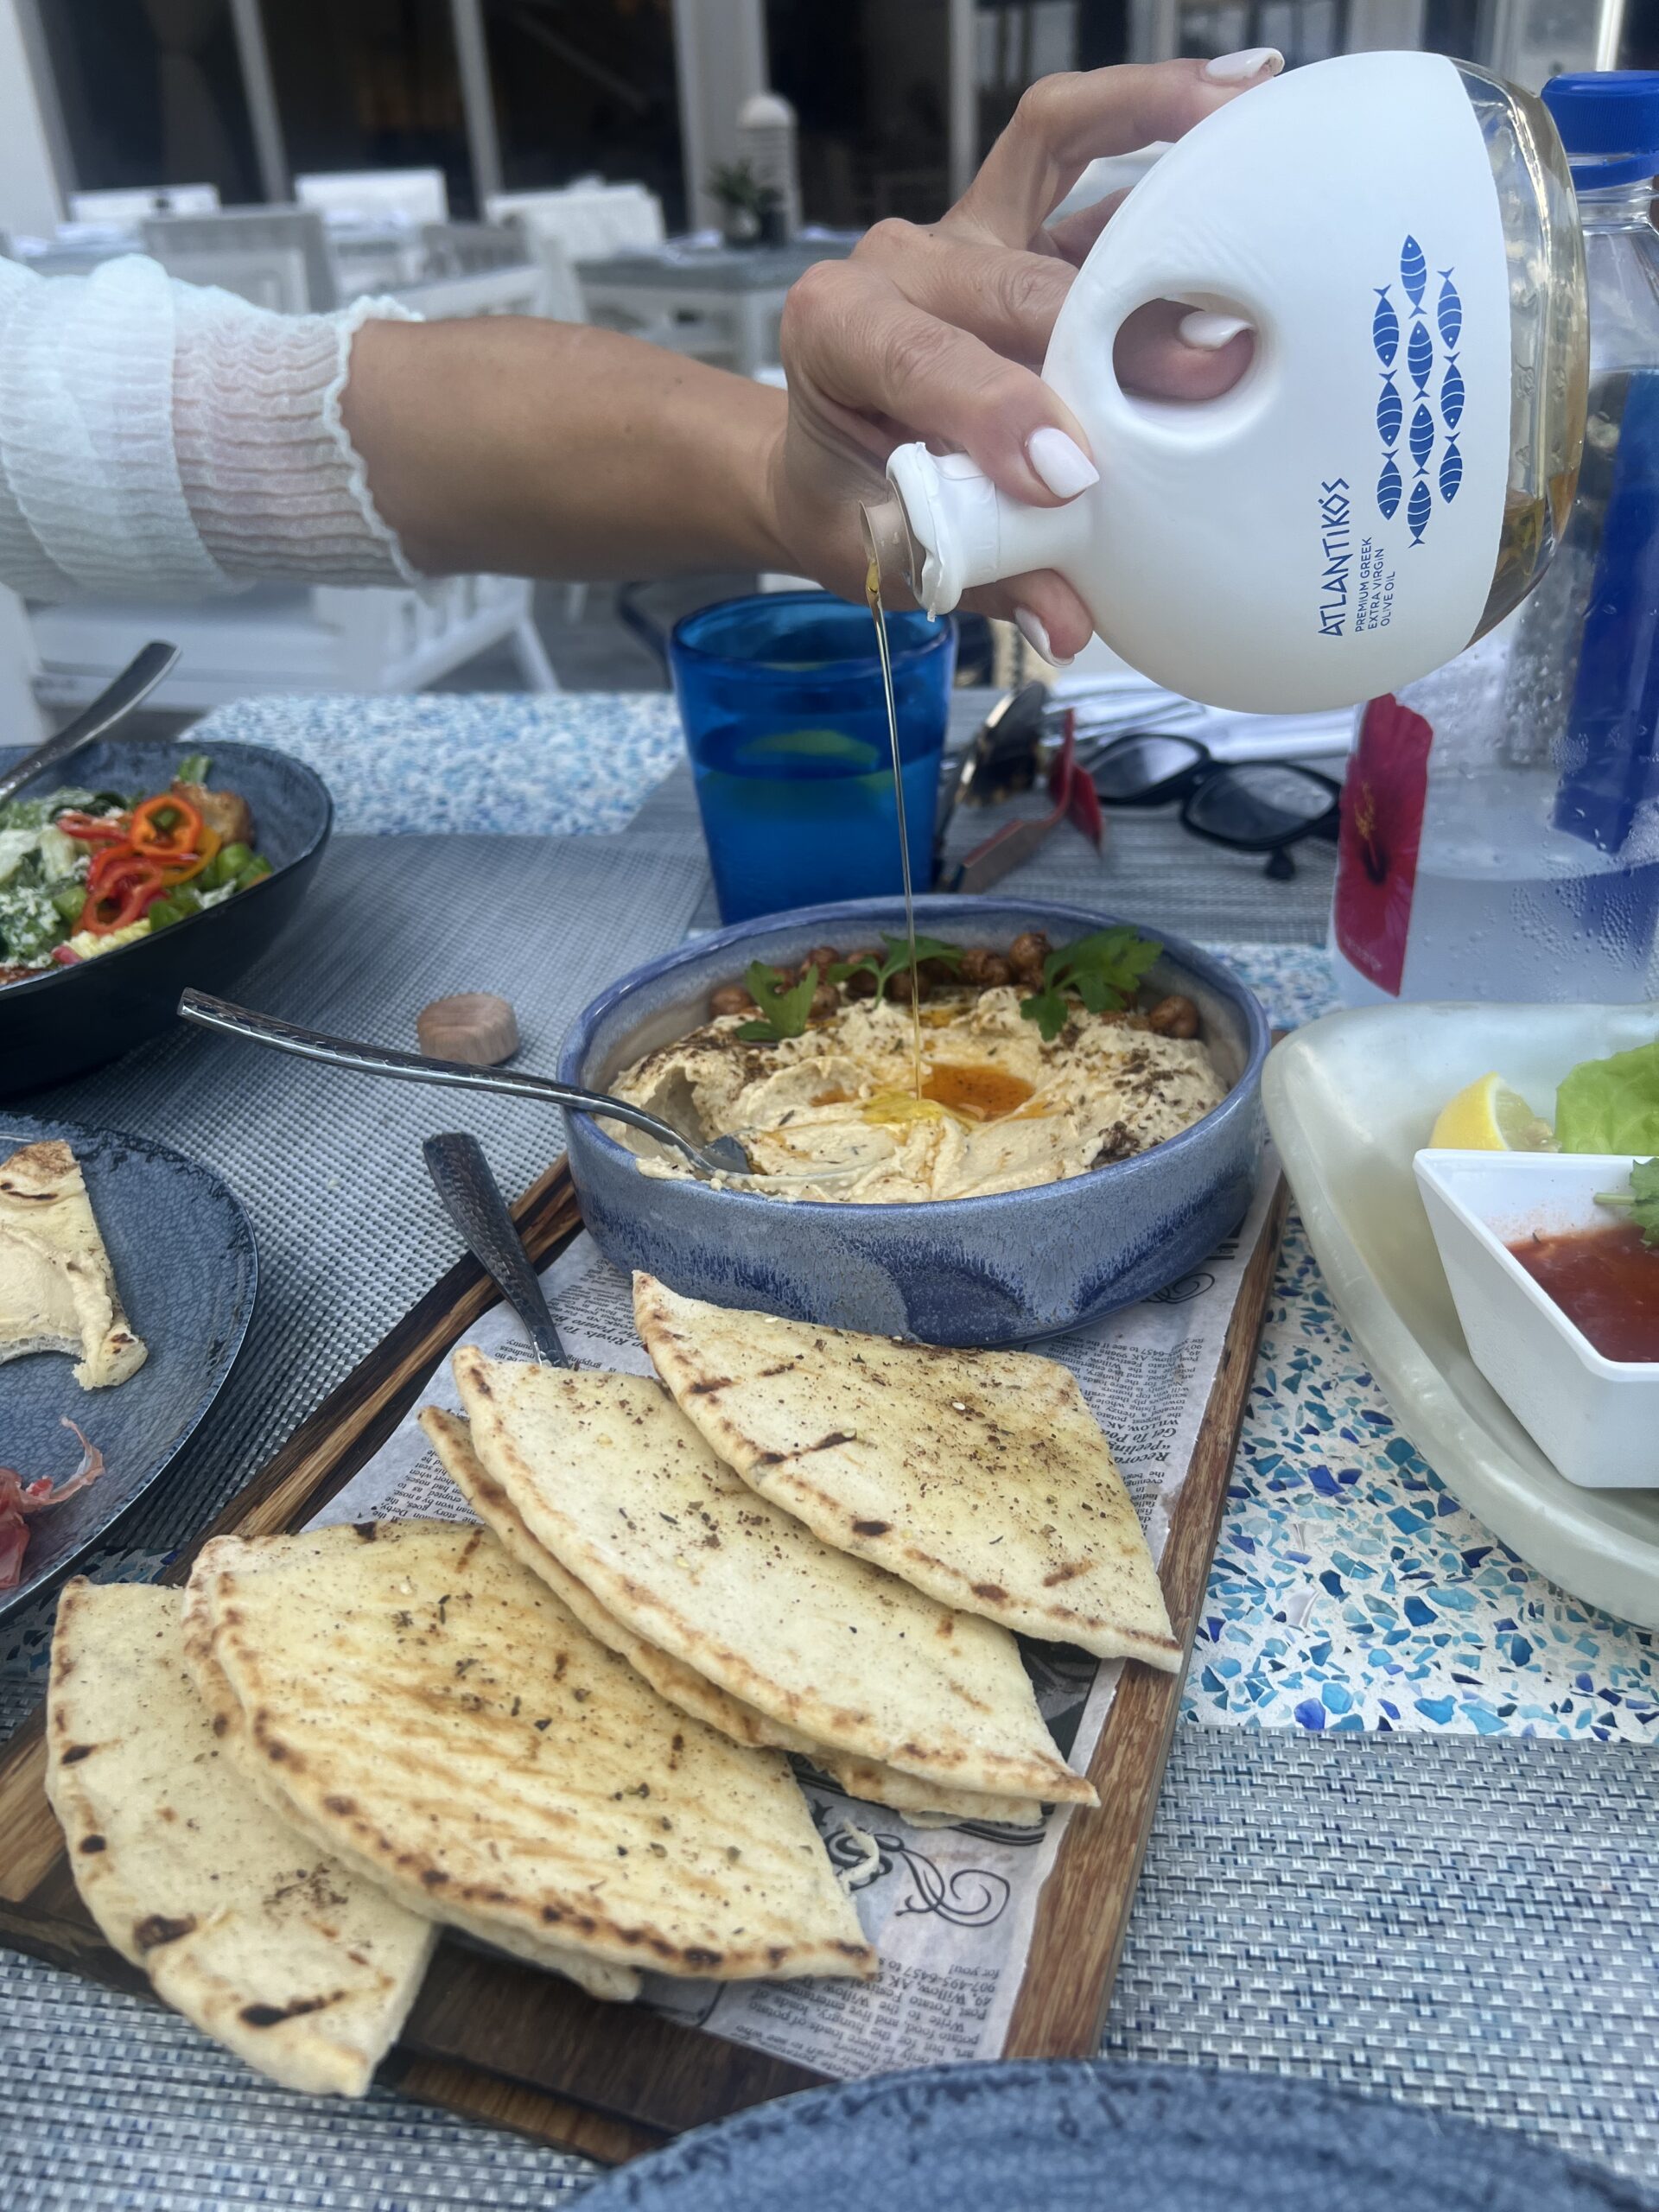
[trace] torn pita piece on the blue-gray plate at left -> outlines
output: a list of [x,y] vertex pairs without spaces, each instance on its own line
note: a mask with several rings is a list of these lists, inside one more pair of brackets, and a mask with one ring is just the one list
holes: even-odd
[[75,1354],[82,1389],[137,1374],[148,1352],[115,1290],[80,1164],[55,1137],[0,1161],[0,1360]]

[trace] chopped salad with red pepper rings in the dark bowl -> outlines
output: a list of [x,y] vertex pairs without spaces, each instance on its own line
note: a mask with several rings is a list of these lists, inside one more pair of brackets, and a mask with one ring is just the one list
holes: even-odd
[[164,792],[0,805],[0,984],[117,951],[270,876],[239,792],[188,754]]

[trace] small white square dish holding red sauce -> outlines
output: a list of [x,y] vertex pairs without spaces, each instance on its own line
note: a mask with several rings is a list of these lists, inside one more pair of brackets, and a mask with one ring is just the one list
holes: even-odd
[[1615,1217],[1595,1194],[1619,1190],[1630,1166],[1601,1152],[1416,1157],[1469,1354],[1540,1451],[1582,1489],[1659,1489],[1659,1363],[1597,1352],[1509,1248],[1528,1230],[1610,1228]]

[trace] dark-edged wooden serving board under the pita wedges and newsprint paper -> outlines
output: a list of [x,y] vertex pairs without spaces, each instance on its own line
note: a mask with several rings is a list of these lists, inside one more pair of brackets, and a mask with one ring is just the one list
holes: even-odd
[[[1283,1212],[1281,1183],[1243,1276],[1159,1568],[1183,1652],[1192,1650],[1214,1555]],[[538,1265],[571,1243],[582,1214],[562,1159],[513,1217]],[[201,1531],[197,1546],[210,1535],[270,1535],[307,1522],[385,1442],[431,1369],[493,1301],[493,1285],[471,1259],[451,1267]],[[186,1579],[197,1546],[166,1571],[166,1582]],[[1124,1670],[1088,1767],[1106,1809],[1066,1827],[1004,2057],[1086,2057],[1099,2046],[1181,1679],[1144,1666]],[[42,1787],[44,1765],[35,1717],[0,1754],[0,1942],[146,1995],[144,1975],[108,1949],[75,1893]],[[599,2004],[557,1975],[453,1942],[434,1958],[383,2077],[606,2163],[823,2079],[637,2006]]]

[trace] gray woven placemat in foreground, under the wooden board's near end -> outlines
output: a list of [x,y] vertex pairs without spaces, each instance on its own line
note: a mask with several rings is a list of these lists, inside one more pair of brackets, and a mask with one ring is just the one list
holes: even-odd
[[[1632,1745],[1177,1732],[1108,2057],[1243,2066],[1522,2128],[1659,2181]],[[7,2212],[540,2205],[580,2161],[252,2079],[170,2015],[0,1953]]]

